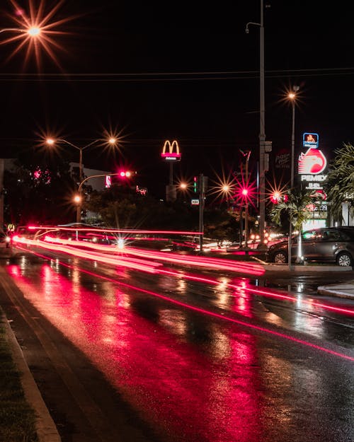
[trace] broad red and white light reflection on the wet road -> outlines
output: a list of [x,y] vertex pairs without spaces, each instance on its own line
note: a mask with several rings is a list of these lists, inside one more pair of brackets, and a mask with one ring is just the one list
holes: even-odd
[[353,361],[254,333],[132,286],[224,310],[250,324],[264,320],[319,338],[331,335],[336,325],[304,314],[301,299],[299,305],[263,303],[246,290],[250,281],[244,278],[235,278],[239,289],[232,290],[227,277],[210,286],[113,268],[96,277],[81,267],[98,272],[94,263],[76,258],[71,267],[23,258],[7,271],[165,441],[353,441]]

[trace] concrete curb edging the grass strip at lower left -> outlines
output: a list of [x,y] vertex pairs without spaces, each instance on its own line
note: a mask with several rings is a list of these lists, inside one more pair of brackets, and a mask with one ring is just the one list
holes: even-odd
[[40,442],[61,442],[62,439],[59,436],[57,427],[50,416],[50,413],[45,405],[45,402],[38,390],[38,386],[33,379],[32,373],[25,361],[23,351],[18,344],[18,341],[11,329],[6,315],[0,307],[0,315],[3,317],[2,323],[4,324],[6,339],[11,348],[11,355],[13,363],[16,364],[18,371],[21,374],[21,383],[25,392],[25,398],[31,407],[35,410],[36,414],[36,429],[38,440]]

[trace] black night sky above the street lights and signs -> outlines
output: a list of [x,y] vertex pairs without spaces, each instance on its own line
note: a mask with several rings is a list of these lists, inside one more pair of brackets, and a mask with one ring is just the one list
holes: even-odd
[[[236,170],[240,149],[251,150],[255,168],[259,132],[260,1],[18,1],[44,6],[50,55],[41,64],[18,42],[0,45],[0,152],[16,157],[56,134],[85,146],[104,130],[118,132],[114,158],[102,149],[84,151],[91,168],[114,164],[137,170],[139,184],[164,194],[168,165],[160,153],[178,140],[178,177],[210,178]],[[270,5],[270,7],[268,7]],[[1,3],[1,28],[18,28],[16,4]],[[282,101],[300,86],[295,146],[303,132],[319,134],[329,156],[354,142],[354,33],[346,1],[265,1],[265,134],[270,161],[290,151],[292,112]],[[11,18],[12,16],[12,18]],[[21,16],[17,16],[21,19]],[[15,33],[0,33],[0,41]],[[13,55],[13,56],[12,56]],[[11,57],[12,56],[12,57]],[[9,58],[10,57],[10,58]],[[54,59],[53,59],[54,58]],[[78,151],[68,149],[68,155]],[[74,150],[74,152],[73,152]],[[77,159],[76,159],[77,161]]]

